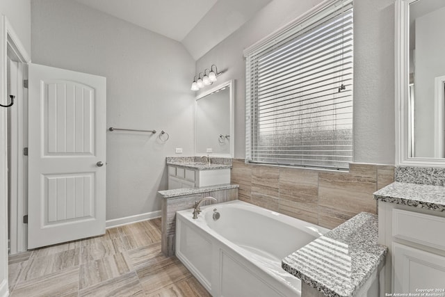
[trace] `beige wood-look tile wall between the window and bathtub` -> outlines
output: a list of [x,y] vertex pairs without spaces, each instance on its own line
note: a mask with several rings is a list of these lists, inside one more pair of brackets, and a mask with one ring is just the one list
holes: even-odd
[[234,159],[238,198],[334,228],[361,211],[377,211],[373,193],[394,182],[394,166],[351,163],[349,172],[245,164]]

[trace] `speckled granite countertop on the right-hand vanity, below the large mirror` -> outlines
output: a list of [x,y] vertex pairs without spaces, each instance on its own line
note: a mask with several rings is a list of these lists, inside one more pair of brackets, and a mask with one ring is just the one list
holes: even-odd
[[445,186],[393,182],[373,195],[375,200],[383,202],[445,211]]

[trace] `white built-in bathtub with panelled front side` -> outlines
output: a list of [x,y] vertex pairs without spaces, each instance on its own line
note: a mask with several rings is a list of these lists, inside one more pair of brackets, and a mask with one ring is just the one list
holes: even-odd
[[329,231],[239,200],[192,212],[177,212],[176,256],[214,297],[301,296],[282,258]]

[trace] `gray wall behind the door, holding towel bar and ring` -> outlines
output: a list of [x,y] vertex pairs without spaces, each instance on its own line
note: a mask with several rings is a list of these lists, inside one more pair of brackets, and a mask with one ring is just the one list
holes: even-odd
[[[106,219],[161,209],[165,156],[194,153],[195,61],[174,40],[92,10],[76,1],[32,1],[34,63],[107,79]],[[159,141],[165,130],[170,139]]]

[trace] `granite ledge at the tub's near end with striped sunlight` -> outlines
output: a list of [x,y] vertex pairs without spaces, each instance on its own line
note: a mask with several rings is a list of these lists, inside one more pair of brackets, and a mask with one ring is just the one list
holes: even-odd
[[326,296],[355,296],[388,248],[378,242],[378,218],[362,212],[282,259],[282,268]]

